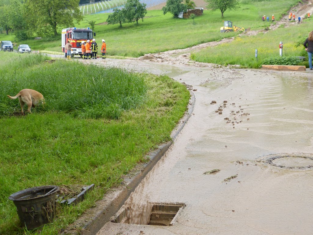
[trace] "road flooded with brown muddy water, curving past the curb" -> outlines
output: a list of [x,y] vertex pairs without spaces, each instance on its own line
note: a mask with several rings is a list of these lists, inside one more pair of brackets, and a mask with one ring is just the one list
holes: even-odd
[[174,144],[98,235],[313,233],[312,73],[86,62],[167,74],[196,90]]

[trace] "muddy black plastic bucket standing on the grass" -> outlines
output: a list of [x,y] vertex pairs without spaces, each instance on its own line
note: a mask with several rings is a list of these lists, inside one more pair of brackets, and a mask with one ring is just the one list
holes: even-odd
[[18,191],[9,196],[16,206],[18,217],[27,229],[51,223],[55,216],[55,195],[58,186],[46,185]]

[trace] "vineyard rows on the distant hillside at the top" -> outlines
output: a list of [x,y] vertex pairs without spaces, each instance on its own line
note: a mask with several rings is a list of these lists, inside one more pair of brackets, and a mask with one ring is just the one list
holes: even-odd
[[[80,11],[83,15],[111,13],[114,8],[123,8],[126,2],[127,0],[109,0],[92,4],[84,4],[80,6]],[[139,2],[146,3],[146,8],[150,8],[161,3],[165,3],[166,0],[140,0]]]

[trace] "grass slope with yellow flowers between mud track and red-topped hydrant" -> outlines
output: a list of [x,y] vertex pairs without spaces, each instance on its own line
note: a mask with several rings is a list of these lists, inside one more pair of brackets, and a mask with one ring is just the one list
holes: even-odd
[[[236,64],[248,68],[258,68],[264,58],[279,56],[280,41],[284,44],[284,56],[305,55],[304,47],[300,46],[296,48],[294,43],[308,36],[312,27],[313,21],[306,19],[300,25],[295,24],[289,28],[279,28],[269,31],[266,34],[259,33],[256,36],[236,37],[231,43],[203,49],[192,54],[191,58],[199,62],[220,65]],[[255,49],[258,49],[258,60],[255,59]],[[230,51],[232,53],[229,53]]]

